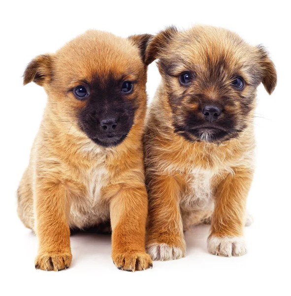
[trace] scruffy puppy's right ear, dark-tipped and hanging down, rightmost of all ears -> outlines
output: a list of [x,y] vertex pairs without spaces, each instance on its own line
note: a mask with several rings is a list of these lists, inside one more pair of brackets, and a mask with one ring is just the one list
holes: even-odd
[[277,72],[266,49],[262,45],[257,46],[257,49],[259,52],[259,64],[262,70],[262,84],[270,95],[277,84]]

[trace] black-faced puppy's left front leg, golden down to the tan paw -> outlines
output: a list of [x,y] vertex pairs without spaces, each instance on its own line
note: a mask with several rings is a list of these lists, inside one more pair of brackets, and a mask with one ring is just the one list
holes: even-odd
[[65,185],[37,180],[35,194],[35,230],[39,244],[35,268],[66,269],[71,263],[72,254],[66,220],[68,200]]

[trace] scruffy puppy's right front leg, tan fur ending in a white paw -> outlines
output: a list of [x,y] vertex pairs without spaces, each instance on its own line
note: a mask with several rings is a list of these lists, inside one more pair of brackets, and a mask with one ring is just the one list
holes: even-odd
[[218,186],[211,234],[207,240],[211,254],[230,257],[246,253],[243,228],[252,179],[252,169],[237,169]]

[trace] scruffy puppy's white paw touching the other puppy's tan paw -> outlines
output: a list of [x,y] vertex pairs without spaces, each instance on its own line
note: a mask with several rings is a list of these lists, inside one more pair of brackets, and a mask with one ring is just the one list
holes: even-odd
[[184,257],[185,251],[177,246],[169,246],[167,244],[150,244],[146,251],[151,255],[153,260],[175,260]]

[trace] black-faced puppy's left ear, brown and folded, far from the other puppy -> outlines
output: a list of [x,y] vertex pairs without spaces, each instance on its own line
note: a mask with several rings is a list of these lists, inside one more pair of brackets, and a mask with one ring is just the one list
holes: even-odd
[[26,85],[30,82],[42,86],[47,83],[51,77],[52,56],[39,55],[34,58],[26,67],[23,74],[23,84]]

